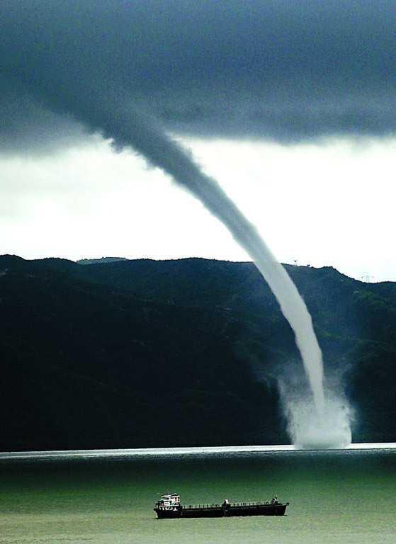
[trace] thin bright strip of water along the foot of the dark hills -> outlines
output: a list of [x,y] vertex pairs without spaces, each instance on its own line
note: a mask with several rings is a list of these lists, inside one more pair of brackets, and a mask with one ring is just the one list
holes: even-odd
[[52,451],[9,451],[0,452],[0,461],[6,459],[50,459],[50,458],[99,458],[99,457],[140,457],[158,455],[208,455],[227,453],[271,453],[344,450],[396,450],[395,442],[352,443],[347,448],[330,450],[298,449],[292,444],[276,446],[203,446],[194,448],[132,448],[114,450],[52,450]]

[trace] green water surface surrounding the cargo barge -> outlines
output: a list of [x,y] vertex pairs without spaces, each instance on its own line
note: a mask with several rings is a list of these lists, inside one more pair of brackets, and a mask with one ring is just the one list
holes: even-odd
[[[396,449],[0,456],[0,543],[396,542]],[[182,502],[290,502],[287,516],[157,520]]]

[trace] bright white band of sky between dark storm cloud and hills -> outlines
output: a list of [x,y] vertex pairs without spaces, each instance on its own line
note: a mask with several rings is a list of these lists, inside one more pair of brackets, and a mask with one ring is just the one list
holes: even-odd
[[[396,279],[396,140],[184,143],[281,261]],[[50,157],[2,158],[0,179],[0,253],[247,259],[197,200],[98,138]]]

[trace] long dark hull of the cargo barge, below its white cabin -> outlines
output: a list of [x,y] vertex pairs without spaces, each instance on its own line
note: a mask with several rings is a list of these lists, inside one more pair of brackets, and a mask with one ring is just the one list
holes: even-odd
[[178,509],[155,508],[158,519],[179,518],[230,518],[234,516],[284,516],[288,503],[284,504],[238,504],[223,506],[182,506]]

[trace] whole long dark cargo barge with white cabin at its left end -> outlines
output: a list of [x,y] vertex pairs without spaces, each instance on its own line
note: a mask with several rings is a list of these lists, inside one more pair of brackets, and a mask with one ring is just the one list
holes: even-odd
[[266,502],[229,502],[183,506],[179,494],[165,494],[154,505],[158,519],[178,518],[228,518],[233,516],[283,516],[288,502],[278,502],[273,497]]

